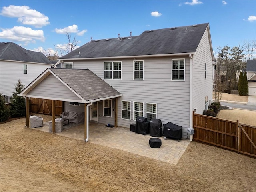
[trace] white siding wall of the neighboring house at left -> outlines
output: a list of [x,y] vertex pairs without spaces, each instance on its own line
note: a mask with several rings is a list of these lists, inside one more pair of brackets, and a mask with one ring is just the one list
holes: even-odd
[[[27,64],[27,74],[23,74],[23,64]],[[18,80],[22,82],[24,88],[36,79],[51,64],[39,64],[28,62],[3,61],[0,62],[0,87],[3,95],[12,96],[14,86]]]

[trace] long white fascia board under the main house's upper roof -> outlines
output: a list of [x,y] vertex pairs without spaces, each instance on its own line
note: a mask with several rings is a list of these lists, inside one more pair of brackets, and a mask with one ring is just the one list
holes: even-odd
[[171,54],[156,54],[156,55],[134,55],[134,56],[116,56],[116,57],[90,57],[90,58],[68,58],[60,59],[60,61],[66,60],[97,60],[97,59],[125,59],[125,58],[150,58],[150,57],[167,57],[167,56],[183,56],[183,55],[194,55],[194,52],[191,53],[171,53]]

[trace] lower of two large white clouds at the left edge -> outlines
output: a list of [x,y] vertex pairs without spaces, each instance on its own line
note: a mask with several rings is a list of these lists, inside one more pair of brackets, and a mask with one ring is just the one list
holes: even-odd
[[42,30],[32,30],[30,27],[14,26],[11,29],[3,29],[0,32],[0,38],[8,39],[11,41],[22,41],[26,44],[34,43],[35,40],[40,40],[44,42],[44,31]]

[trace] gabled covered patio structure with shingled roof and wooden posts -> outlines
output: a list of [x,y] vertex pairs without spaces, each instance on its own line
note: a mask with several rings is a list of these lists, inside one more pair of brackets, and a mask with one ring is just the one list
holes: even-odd
[[89,106],[114,99],[114,126],[117,127],[117,98],[112,86],[88,69],[48,68],[19,94],[26,98],[26,127],[29,127],[29,98],[52,100],[52,132],[55,133],[55,101],[84,104],[84,141],[89,140]]

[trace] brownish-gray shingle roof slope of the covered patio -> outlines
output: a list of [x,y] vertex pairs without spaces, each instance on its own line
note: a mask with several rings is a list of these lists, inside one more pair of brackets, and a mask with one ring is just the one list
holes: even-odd
[[112,86],[88,69],[49,68],[86,101],[120,95]]

